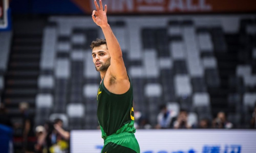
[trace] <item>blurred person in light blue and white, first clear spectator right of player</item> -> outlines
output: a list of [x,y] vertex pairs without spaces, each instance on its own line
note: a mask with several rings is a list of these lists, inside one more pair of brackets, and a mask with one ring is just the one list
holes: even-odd
[[166,105],[160,106],[160,113],[157,116],[156,129],[170,128],[171,119],[173,118],[170,111],[168,111]]

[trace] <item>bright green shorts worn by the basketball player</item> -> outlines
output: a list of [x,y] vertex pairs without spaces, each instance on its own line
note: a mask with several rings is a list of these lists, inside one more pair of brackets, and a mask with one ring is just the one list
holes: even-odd
[[106,137],[101,153],[140,153],[140,146],[133,133],[120,133]]

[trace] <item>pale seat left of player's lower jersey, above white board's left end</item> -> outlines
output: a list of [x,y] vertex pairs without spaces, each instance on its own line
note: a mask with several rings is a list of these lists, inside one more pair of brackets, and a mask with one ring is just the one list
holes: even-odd
[[82,118],[85,115],[85,107],[82,103],[70,103],[67,105],[67,115],[70,118]]

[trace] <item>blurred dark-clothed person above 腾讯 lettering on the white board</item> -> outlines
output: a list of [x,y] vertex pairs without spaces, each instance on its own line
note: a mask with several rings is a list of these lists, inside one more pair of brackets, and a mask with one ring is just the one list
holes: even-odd
[[219,112],[217,117],[213,120],[213,128],[215,129],[231,129],[233,124],[226,119],[225,112]]

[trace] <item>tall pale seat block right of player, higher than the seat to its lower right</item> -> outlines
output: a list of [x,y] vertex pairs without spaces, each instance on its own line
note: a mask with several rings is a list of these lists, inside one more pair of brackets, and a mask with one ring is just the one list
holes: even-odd
[[190,78],[188,75],[176,75],[174,77],[176,96],[189,96],[192,93]]

